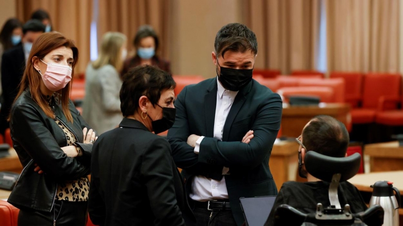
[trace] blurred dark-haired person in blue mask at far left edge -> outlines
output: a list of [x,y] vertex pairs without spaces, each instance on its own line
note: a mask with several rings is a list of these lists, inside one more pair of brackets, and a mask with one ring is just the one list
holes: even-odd
[[[0,66],[2,65],[3,53],[7,50],[17,46],[21,43],[22,37],[22,23],[17,18],[10,18],[3,25],[2,31],[0,31]],[[0,70],[0,78],[2,76]],[[0,86],[0,94],[3,89]],[[3,103],[3,101],[1,101]]]

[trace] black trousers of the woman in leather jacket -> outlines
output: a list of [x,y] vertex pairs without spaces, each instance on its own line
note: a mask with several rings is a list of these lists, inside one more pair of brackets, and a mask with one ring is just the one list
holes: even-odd
[[37,211],[34,209],[21,209],[18,214],[18,226],[38,226],[54,225],[57,226],[85,226],[87,224],[87,203],[55,201],[53,209],[50,212]]

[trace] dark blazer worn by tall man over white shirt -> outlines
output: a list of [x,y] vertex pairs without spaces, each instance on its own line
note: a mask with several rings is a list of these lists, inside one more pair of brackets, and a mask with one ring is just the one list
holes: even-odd
[[[186,181],[193,175],[221,180],[223,167],[229,167],[225,181],[232,213],[241,225],[244,217],[240,197],[277,194],[268,160],[280,129],[282,100],[279,94],[252,80],[235,97],[223,141],[213,138],[216,102],[217,77],[186,86],[175,101],[175,124],[167,138]],[[244,144],[242,138],[249,130],[254,131],[254,137]],[[205,136],[199,154],[186,143],[191,134]],[[190,185],[186,183],[187,192]]]

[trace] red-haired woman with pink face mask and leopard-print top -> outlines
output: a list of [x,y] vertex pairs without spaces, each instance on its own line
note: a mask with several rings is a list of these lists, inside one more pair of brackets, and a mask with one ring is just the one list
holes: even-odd
[[78,61],[72,40],[50,32],[33,44],[10,113],[14,149],[24,169],[8,199],[18,225],[87,222],[95,131],[69,99]]

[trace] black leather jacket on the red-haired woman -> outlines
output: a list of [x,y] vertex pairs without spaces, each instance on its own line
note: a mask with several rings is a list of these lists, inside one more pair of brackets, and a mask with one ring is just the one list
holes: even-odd
[[[61,105],[52,97],[51,106],[57,119],[73,131],[83,150],[81,157],[68,157],[60,147],[67,144],[64,132],[55,121],[32,99],[26,89],[11,109],[11,137],[14,149],[24,169],[14,187],[8,202],[17,208],[32,208],[51,211],[56,195],[57,182],[75,180],[90,174],[92,144],[83,143],[83,128],[90,126],[80,116],[70,101],[69,108],[73,123],[68,122]],[[34,171],[34,164],[43,174]]]

